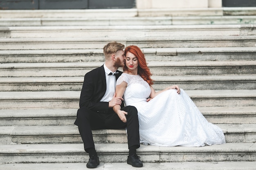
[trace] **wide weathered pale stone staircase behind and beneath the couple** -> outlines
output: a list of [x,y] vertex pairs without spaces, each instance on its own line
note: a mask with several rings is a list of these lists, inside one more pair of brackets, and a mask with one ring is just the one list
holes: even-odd
[[74,125],[83,76],[103,64],[102,48],[113,40],[139,46],[154,88],[178,84],[227,144],[141,145],[144,167],[134,168],[125,130],[94,130],[97,169],[255,170],[256,9],[156,12],[0,11],[0,170],[86,168]]

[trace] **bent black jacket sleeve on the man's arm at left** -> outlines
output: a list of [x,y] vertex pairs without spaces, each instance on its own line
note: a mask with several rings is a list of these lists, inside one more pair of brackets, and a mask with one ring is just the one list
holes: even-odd
[[85,74],[79,106],[80,108],[87,107],[90,110],[104,113],[108,111],[108,102],[100,102],[102,94],[96,88],[101,88],[99,84],[102,83],[97,82],[97,80],[99,80],[97,76],[90,73]]

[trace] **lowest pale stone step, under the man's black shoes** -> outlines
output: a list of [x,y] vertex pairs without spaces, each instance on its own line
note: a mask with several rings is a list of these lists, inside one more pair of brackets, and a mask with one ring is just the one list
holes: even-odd
[[[4,163],[1,170],[84,170],[84,163]],[[255,170],[254,161],[223,162],[155,162],[143,163],[143,167],[135,168],[124,163],[100,163],[95,170]]]

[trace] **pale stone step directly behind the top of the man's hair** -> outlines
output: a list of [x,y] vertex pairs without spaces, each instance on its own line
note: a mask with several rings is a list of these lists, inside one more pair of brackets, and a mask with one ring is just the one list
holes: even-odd
[[255,47],[256,35],[98,38],[1,38],[0,50],[102,49],[108,42],[139,48]]

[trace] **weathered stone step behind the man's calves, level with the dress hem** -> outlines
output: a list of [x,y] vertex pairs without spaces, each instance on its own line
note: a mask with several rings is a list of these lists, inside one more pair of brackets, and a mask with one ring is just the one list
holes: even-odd
[[[256,142],[256,124],[218,124],[226,142]],[[94,143],[127,143],[126,130],[93,130]],[[0,126],[0,144],[82,143],[76,125]]]

